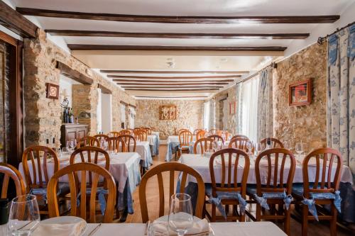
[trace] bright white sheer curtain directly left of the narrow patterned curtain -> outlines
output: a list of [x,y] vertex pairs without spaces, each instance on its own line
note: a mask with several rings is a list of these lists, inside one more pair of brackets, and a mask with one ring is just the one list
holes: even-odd
[[239,93],[240,134],[248,136],[254,142],[258,140],[258,82],[258,76],[243,82]]

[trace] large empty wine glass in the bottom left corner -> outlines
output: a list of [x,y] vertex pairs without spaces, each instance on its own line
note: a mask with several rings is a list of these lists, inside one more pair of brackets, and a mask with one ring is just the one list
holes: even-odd
[[34,195],[13,198],[10,206],[8,229],[13,236],[30,236],[40,223],[40,210]]

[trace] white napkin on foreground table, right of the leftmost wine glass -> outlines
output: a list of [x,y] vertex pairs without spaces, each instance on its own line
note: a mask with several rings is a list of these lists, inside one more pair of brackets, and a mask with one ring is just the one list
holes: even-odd
[[40,223],[34,232],[36,236],[80,236],[86,227],[85,220],[77,223],[63,222],[58,224]]

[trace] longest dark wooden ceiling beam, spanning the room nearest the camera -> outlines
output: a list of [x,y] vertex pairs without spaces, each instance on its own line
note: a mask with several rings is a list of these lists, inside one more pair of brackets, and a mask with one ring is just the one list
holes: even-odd
[[145,16],[114,13],[89,13],[55,11],[18,7],[16,10],[27,16],[75,18],[96,21],[127,21],[151,23],[334,23],[340,16]]

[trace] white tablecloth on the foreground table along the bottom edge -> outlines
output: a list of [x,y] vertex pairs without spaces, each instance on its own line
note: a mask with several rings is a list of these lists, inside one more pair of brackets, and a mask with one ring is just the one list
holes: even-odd
[[[97,224],[88,224],[84,236],[89,235]],[[271,222],[211,223],[215,236],[285,236],[285,232]],[[134,235],[143,236],[146,224],[102,224],[95,236]],[[35,236],[35,234],[33,234]]]

